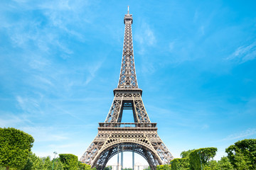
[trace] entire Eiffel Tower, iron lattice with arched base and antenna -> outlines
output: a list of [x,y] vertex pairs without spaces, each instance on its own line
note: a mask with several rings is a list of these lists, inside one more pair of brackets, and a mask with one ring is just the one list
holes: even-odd
[[[140,154],[155,170],[157,165],[169,164],[174,157],[157,134],[156,123],[149,120],[142,101],[142,89],[139,89],[135,72],[129,6],[124,25],[122,65],[118,86],[114,89],[114,101],[105,123],[99,123],[98,134],[80,161],[96,169],[104,169],[122,148],[122,152]],[[134,123],[121,123],[124,110],[132,110]]]

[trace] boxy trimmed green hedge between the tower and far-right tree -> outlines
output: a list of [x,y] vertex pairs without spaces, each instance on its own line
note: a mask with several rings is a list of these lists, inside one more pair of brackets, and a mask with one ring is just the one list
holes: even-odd
[[201,169],[201,164],[204,166],[210,161],[210,159],[213,159],[217,150],[218,149],[216,147],[206,147],[193,150],[193,152],[189,154],[190,169]]

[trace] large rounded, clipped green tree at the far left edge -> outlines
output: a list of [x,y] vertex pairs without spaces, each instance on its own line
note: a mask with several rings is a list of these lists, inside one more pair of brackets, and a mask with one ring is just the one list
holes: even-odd
[[15,128],[0,128],[0,166],[22,169],[33,147],[31,135]]

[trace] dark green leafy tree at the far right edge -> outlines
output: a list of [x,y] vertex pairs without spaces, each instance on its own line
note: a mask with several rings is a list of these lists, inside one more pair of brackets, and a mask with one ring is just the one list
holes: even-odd
[[256,140],[240,140],[225,152],[235,169],[256,169]]

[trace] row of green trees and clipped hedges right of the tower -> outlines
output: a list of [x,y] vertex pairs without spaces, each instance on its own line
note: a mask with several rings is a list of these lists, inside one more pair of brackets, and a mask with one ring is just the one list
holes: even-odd
[[157,170],[247,170],[256,169],[256,140],[241,140],[230,145],[218,162],[213,160],[217,148],[207,147],[181,152],[181,158],[176,158],[170,164],[156,166]]

